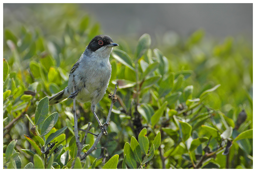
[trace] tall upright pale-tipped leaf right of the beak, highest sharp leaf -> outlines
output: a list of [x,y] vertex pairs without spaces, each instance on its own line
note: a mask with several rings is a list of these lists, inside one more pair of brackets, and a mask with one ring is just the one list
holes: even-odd
[[143,34],[137,44],[134,54],[135,61],[138,61],[140,57],[149,49],[151,44],[151,38],[149,34]]

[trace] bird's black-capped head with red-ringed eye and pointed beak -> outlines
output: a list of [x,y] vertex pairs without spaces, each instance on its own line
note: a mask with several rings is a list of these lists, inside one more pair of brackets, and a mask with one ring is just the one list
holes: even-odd
[[113,40],[108,35],[97,35],[88,44],[87,49],[94,52],[101,47],[115,47],[118,44],[113,43]]

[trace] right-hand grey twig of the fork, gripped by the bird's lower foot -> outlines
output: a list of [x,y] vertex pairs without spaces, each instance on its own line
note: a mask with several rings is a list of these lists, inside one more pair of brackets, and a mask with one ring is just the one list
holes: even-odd
[[[117,84],[115,85],[115,91],[114,91],[114,94],[116,94],[116,90],[117,90]],[[111,105],[110,105],[110,108],[109,108],[109,112],[108,112],[108,116],[107,116],[107,119],[106,119],[106,123],[109,123],[109,120],[110,120],[110,115],[111,115],[111,111],[112,111],[112,108],[113,108],[113,101],[111,101]],[[108,126],[106,125],[106,128]],[[98,144],[98,142],[100,141],[101,137],[102,137],[103,133],[101,132],[98,137],[96,138],[95,142],[93,143],[93,145],[91,146],[91,148],[83,155],[80,156],[80,159],[81,161],[84,160],[86,158],[86,156],[88,156],[96,147],[96,145]]]

